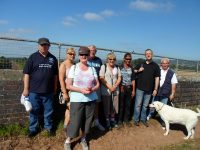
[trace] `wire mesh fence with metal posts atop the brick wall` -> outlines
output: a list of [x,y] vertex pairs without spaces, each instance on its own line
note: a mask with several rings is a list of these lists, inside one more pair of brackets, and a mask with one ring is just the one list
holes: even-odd
[[[37,40],[0,37],[0,69],[23,69],[29,55],[37,51],[37,46]],[[66,49],[68,47],[74,47],[77,52],[80,46],[81,45],[51,42],[50,52],[57,57],[58,62],[60,63],[65,59]],[[133,54],[133,65],[136,65],[145,59],[144,54],[130,50],[115,50],[98,47],[97,50],[97,56],[99,56],[103,61],[106,60],[106,56],[109,52],[114,52],[116,54],[118,63],[121,63],[126,52]],[[164,56],[154,55],[154,61],[160,64],[160,59],[163,57]],[[170,67],[176,71],[189,71],[197,73],[199,71],[199,61],[177,58],[169,59]]]

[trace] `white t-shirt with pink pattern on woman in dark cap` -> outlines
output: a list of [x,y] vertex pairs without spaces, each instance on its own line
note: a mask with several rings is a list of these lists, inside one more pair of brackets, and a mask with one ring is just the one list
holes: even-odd
[[[70,68],[68,78],[73,79],[73,86],[75,87],[94,87],[96,84],[97,73],[94,67],[88,67],[88,70],[82,71],[80,70],[79,63],[77,63]],[[96,92],[82,94],[80,92],[71,91],[70,93],[70,102],[89,102],[96,99]]]

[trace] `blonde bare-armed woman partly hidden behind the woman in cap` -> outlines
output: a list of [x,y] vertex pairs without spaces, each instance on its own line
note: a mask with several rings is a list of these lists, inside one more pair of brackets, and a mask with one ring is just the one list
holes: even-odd
[[66,59],[60,64],[59,67],[59,81],[60,87],[63,94],[63,99],[67,102],[67,108],[65,111],[65,120],[64,120],[64,129],[67,129],[67,125],[69,124],[69,90],[67,90],[67,76],[69,73],[69,69],[74,64],[76,52],[74,48],[68,48],[66,50]]

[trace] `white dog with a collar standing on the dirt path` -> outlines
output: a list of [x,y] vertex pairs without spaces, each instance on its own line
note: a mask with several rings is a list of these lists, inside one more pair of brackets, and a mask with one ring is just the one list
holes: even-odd
[[168,135],[170,123],[177,123],[186,126],[188,135],[184,139],[194,138],[194,128],[198,123],[198,116],[200,116],[198,108],[198,113],[196,113],[189,109],[174,108],[159,101],[154,101],[152,104],[149,104],[149,107],[155,108],[165,122],[166,132],[164,135]]

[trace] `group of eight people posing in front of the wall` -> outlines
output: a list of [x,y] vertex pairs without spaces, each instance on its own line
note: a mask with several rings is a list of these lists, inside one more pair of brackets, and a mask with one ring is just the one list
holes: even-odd
[[[57,91],[58,79],[61,92],[67,103],[64,128],[67,138],[64,149],[71,149],[72,139],[82,131],[81,145],[88,149],[86,136],[92,123],[101,131],[123,125],[139,126],[139,122],[148,127],[148,105],[153,99],[167,104],[174,98],[177,78],[169,69],[169,59],[161,60],[161,68],[155,63],[153,51],[145,50],[146,60],[132,66],[132,55],[126,53],[123,63],[117,65],[116,55],[109,53],[105,64],[96,56],[96,47],[80,47],[79,62],[75,63],[74,48],[66,50],[66,59],[58,69],[55,56],[49,52],[47,38],[38,40],[38,51],[33,53],[24,67],[23,95],[29,96],[33,109],[30,112],[29,137],[38,133],[40,109],[44,109],[44,129],[53,134],[53,96]],[[134,112],[131,114],[131,101],[134,100]],[[99,109],[102,101],[103,110]],[[106,125],[99,121],[99,112],[104,113]],[[118,117],[116,117],[118,116]],[[133,118],[131,119],[131,116]]]

